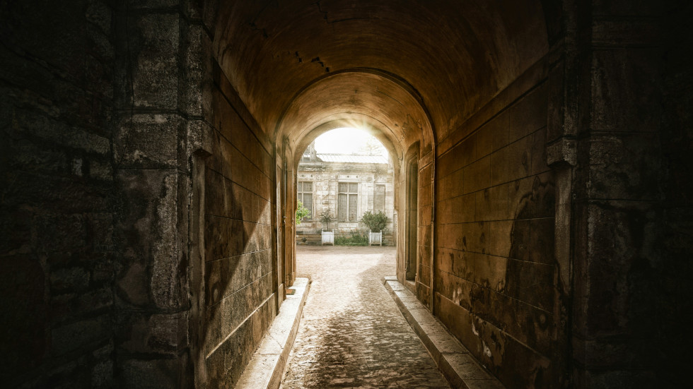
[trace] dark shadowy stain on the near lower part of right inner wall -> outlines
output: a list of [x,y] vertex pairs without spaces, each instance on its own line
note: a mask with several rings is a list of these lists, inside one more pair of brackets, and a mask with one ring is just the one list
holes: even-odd
[[[487,281],[487,285],[474,285],[470,292],[476,335],[470,337],[470,349],[502,382],[516,383],[518,388],[547,388],[556,382],[552,378],[556,366],[551,366],[557,352],[555,191],[550,176],[544,178],[535,176],[529,192],[522,190],[521,181],[514,184],[516,193],[525,194],[512,221],[508,258],[494,257],[504,269],[492,270],[497,285]],[[485,239],[483,235],[481,239]]]

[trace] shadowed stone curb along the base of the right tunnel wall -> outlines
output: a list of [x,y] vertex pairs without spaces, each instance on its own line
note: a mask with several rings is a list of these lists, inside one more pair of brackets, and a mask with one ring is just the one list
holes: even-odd
[[479,361],[426,309],[412,292],[397,281],[397,277],[383,279],[385,289],[395,299],[402,315],[412,326],[438,369],[453,388],[504,389],[503,384],[484,369]]

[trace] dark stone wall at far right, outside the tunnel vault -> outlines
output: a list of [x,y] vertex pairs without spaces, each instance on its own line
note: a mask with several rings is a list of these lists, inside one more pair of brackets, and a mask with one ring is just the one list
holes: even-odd
[[[690,11],[676,1],[598,3],[590,27],[576,26],[590,31],[574,42],[583,66],[575,93],[588,104],[564,110],[566,123],[579,125],[562,135],[576,136],[571,357],[579,388],[688,381],[682,356],[692,337],[681,329],[692,322],[674,312],[691,302],[673,291],[692,279],[682,260],[691,249],[690,222],[682,222],[691,215],[691,132],[680,105],[690,102],[682,50],[691,37],[672,26]],[[665,112],[680,109],[680,119],[668,120]]]

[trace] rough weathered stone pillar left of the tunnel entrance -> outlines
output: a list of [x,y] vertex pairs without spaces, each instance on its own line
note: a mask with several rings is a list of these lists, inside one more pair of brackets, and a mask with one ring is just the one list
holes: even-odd
[[185,0],[118,6],[115,379],[128,388],[190,387],[199,353],[190,326],[199,296],[190,277],[199,267],[191,167],[209,150],[214,10]]

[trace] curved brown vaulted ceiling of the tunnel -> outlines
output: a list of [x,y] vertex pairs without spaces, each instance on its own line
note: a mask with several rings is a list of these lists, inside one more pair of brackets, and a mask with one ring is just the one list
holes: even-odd
[[224,73],[294,145],[364,118],[400,154],[442,140],[548,49],[538,0],[221,1],[217,20]]

